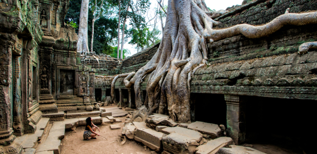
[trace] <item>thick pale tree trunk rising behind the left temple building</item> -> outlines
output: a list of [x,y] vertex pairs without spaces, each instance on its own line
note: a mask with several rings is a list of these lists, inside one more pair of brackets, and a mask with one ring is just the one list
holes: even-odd
[[78,41],[77,41],[77,52],[84,54],[89,53],[88,48],[88,9],[89,0],[82,1],[80,25],[78,28]]

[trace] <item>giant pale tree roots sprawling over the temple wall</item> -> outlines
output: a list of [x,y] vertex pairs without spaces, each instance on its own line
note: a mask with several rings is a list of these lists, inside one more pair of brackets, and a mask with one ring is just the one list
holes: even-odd
[[[190,122],[190,80],[195,71],[207,64],[207,43],[243,34],[249,38],[269,35],[284,25],[306,25],[317,23],[317,12],[288,13],[276,17],[263,26],[247,24],[214,30],[221,24],[212,20],[224,11],[210,12],[204,0],[169,0],[166,27],[159,49],[152,59],[137,72],[117,75],[126,77],[124,84],[134,84],[135,103],[141,107],[140,84],[148,75],[147,94],[144,105],[148,114],[169,114],[175,122]],[[304,45],[303,45],[304,46]],[[315,43],[305,47],[316,47]],[[303,47],[303,51],[306,50]]]

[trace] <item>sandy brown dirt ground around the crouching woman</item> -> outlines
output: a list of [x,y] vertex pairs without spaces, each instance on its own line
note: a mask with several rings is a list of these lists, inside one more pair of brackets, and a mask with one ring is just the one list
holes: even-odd
[[[100,134],[106,137],[97,137],[96,140],[83,140],[83,133],[85,127],[77,127],[75,131],[67,131],[65,138],[62,140],[61,153],[62,154],[84,154],[84,153],[127,153],[127,154],[147,154],[151,153],[152,150],[139,145],[135,141],[129,141],[124,145],[120,145],[121,139],[118,137],[121,134],[122,128],[124,127],[125,118],[117,118],[122,120],[121,123],[116,123],[121,126],[121,129],[111,130],[109,125],[101,125]],[[117,151],[116,151],[117,150]]]

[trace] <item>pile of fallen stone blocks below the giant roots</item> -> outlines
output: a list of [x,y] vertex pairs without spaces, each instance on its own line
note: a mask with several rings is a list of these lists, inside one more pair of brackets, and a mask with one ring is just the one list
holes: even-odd
[[233,145],[232,139],[225,137],[222,126],[204,122],[177,124],[168,115],[154,113],[144,122],[126,121],[121,144],[128,138],[165,154],[263,153],[250,147]]

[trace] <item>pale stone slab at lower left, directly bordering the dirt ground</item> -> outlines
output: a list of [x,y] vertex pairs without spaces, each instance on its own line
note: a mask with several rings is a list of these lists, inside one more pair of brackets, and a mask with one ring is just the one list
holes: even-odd
[[60,154],[61,140],[64,138],[64,134],[65,123],[54,122],[48,133],[47,139],[37,145],[36,152],[54,151],[54,154]]

